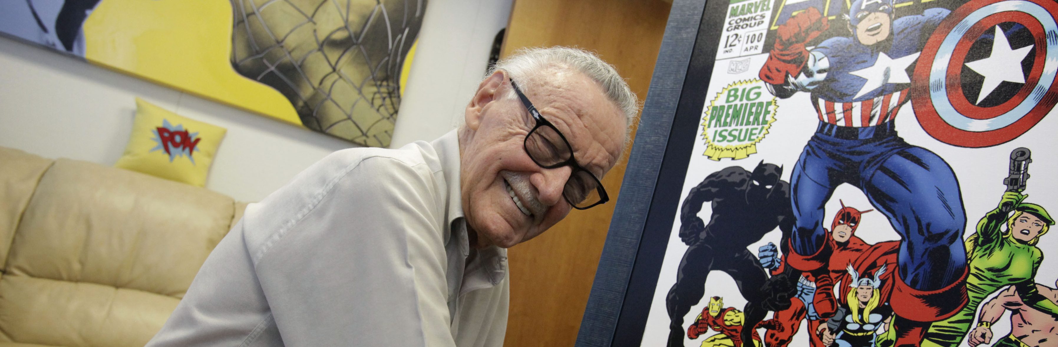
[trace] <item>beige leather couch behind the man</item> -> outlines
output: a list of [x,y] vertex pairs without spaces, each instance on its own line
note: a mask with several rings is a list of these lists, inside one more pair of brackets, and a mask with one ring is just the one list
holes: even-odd
[[0,147],[0,347],[143,346],[244,207]]

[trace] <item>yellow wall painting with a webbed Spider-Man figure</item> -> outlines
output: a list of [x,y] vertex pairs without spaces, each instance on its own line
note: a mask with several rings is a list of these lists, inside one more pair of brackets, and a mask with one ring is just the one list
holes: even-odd
[[0,1],[0,34],[386,147],[426,2]]

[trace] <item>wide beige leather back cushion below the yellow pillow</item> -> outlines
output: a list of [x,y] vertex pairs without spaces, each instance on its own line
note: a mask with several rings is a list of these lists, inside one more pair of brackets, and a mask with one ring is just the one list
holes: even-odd
[[25,208],[7,272],[181,297],[234,211],[211,190],[60,159]]

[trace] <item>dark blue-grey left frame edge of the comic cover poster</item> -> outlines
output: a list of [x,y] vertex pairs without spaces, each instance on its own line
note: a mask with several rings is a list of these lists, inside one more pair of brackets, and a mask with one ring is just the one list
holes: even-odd
[[640,345],[728,3],[673,1],[576,346]]

